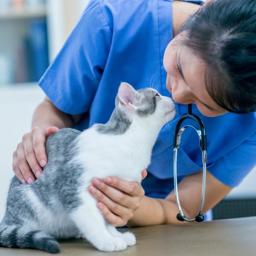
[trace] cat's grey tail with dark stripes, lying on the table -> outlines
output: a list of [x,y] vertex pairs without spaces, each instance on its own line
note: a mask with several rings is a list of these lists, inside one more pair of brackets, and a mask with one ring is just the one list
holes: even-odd
[[31,248],[50,253],[60,252],[57,240],[40,230],[28,231],[28,227],[0,224],[0,246],[9,248]]

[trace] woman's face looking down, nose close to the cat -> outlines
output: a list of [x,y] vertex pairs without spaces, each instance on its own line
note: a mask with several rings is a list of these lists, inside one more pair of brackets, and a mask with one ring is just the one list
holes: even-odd
[[176,36],[164,52],[166,86],[177,103],[195,103],[205,116],[227,113],[209,95],[205,85],[206,64],[186,46],[181,44],[184,35]]

